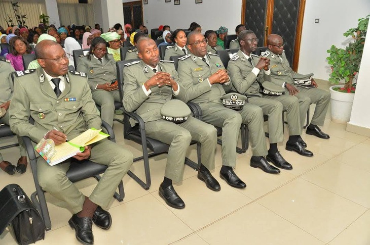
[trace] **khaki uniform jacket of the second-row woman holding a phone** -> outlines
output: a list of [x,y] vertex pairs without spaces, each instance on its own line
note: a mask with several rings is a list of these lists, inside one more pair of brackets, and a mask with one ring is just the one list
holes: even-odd
[[76,70],[86,73],[91,90],[95,90],[98,84],[117,80],[116,61],[112,55],[108,54],[107,56],[109,60],[104,57],[103,64],[93,56],[91,56],[91,60],[88,60],[87,56],[79,59]]

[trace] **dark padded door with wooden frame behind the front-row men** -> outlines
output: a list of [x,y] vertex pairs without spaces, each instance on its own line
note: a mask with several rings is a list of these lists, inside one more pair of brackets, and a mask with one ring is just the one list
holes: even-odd
[[243,0],[242,24],[267,46],[271,33],[283,37],[285,55],[297,71],[306,0]]

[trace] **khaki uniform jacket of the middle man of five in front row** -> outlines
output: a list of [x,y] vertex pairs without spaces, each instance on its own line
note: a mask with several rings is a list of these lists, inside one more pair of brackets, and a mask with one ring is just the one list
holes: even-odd
[[219,69],[225,69],[218,55],[207,54],[210,67],[193,54],[186,57],[178,61],[177,71],[181,85],[187,89],[188,99],[197,104],[216,102],[222,105],[220,97],[230,91],[231,82],[228,85],[215,83],[209,86],[207,80]]

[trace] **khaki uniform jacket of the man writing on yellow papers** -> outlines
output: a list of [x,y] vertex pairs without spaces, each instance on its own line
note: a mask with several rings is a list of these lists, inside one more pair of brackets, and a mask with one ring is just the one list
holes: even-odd
[[[65,88],[59,98],[45,79],[42,68],[16,77],[9,109],[11,130],[39,142],[53,127],[68,138],[74,138],[89,128],[100,129],[101,119],[92,100],[87,76],[76,74],[69,71],[65,75]],[[28,122],[29,117],[34,120],[34,125]]]

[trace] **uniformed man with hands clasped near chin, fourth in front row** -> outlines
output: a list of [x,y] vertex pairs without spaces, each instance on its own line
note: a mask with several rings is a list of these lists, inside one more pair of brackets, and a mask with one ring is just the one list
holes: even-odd
[[[312,157],[313,154],[306,150],[299,140],[302,133],[302,127],[299,118],[299,103],[296,97],[289,95],[270,96],[260,93],[260,84],[264,85],[265,81],[271,81],[269,62],[264,57],[251,54],[257,48],[258,39],[254,32],[250,30],[241,31],[238,35],[240,50],[230,59],[228,72],[236,91],[245,94],[251,104],[262,108],[264,115],[269,116],[269,140],[270,149],[267,160],[272,162],[276,167],[283,169],[292,169],[281,156],[277,148],[277,142],[283,141],[283,122],[282,112],[286,111],[289,140],[286,142],[286,150],[295,151],[303,156]],[[275,84],[270,83],[271,86]],[[278,85],[277,89],[284,91]],[[268,93],[269,91],[266,91]],[[273,94],[273,93],[270,93]],[[302,140],[303,142],[303,140]],[[307,146],[307,145],[306,145]]]

